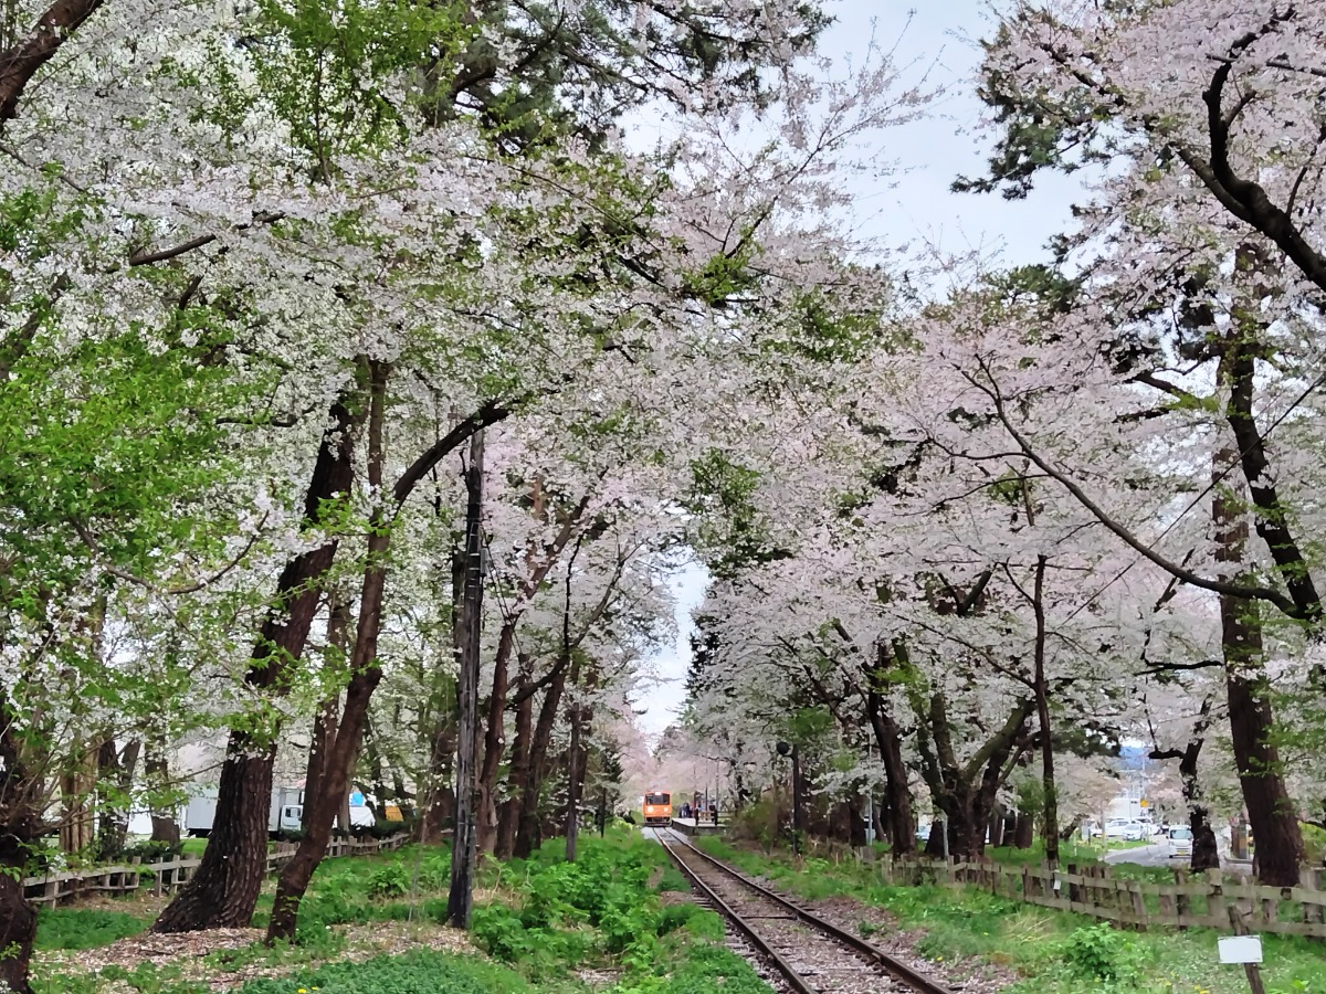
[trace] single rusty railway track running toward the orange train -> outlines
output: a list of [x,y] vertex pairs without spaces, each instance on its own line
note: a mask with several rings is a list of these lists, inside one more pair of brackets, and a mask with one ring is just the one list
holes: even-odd
[[700,852],[671,828],[655,830],[655,836],[701,900],[777,973],[778,986],[794,994],[955,994],[866,940]]

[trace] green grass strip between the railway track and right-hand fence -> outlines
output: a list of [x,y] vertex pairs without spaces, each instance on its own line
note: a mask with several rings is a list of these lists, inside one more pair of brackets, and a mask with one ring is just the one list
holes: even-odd
[[[700,848],[781,891],[810,900],[851,896],[884,908],[904,929],[924,929],[930,960],[980,957],[1024,975],[1016,994],[1245,994],[1237,966],[1221,966],[1217,933],[1123,932],[1081,914],[997,897],[973,888],[884,887],[869,865],[764,856],[703,838]],[[1286,936],[1262,938],[1269,994],[1326,994],[1326,949]],[[1010,993],[1010,994],[1012,994]]]

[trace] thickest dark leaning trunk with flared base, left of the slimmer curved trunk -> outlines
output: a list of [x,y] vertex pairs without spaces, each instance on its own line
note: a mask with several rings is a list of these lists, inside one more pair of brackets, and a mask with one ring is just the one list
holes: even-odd
[[[354,432],[359,417],[332,406],[332,425],[322,436],[313,478],[304,502],[304,520],[317,527],[328,505],[354,484]],[[335,558],[337,538],[301,553],[281,571],[276,603],[263,623],[245,681],[259,694],[284,694],[289,668],[304,655],[317,612],[320,584]],[[247,729],[231,732],[221,765],[213,827],[194,877],[152,925],[154,932],[198,932],[247,928],[253,917],[267,871],[268,812],[272,806],[272,765],[276,736]]]

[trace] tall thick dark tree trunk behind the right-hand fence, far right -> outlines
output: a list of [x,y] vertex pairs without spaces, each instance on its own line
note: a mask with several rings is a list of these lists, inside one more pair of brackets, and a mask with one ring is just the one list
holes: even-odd
[[[1227,359],[1223,358],[1220,364],[1224,368]],[[1223,467],[1236,457],[1237,453],[1228,448],[1219,452],[1215,472],[1220,474]],[[1220,575],[1223,579],[1238,577],[1244,573],[1248,522],[1228,481],[1216,489],[1212,518],[1216,525],[1216,562],[1228,565]],[[1257,836],[1257,879],[1273,887],[1297,887],[1303,839],[1285,786],[1280,753],[1270,741],[1274,717],[1262,665],[1260,606],[1221,594],[1220,628],[1235,767],[1248,820]]]

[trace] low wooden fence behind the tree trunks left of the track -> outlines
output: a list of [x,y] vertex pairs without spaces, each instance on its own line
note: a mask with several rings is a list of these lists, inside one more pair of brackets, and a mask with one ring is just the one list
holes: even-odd
[[[337,839],[328,844],[326,855],[332,856],[371,856],[377,852],[390,852],[400,848],[407,832],[398,832],[387,839]],[[278,842],[268,850],[267,872],[274,873],[294,857],[297,844]],[[154,895],[174,893],[194,875],[202,859],[166,859],[155,863],[134,860],[127,865],[95,867],[45,876],[29,876],[23,881],[24,896],[29,904],[57,904],[73,897],[88,897],[94,893],[125,895],[139,889],[151,889]]]

